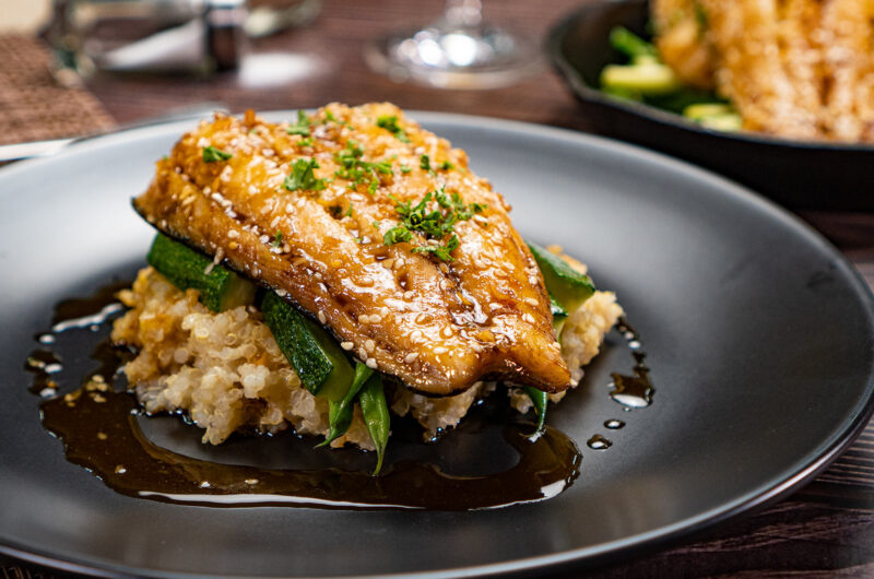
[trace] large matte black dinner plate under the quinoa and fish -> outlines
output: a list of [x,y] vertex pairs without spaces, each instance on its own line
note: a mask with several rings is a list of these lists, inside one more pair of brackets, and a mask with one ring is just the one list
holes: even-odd
[[[152,231],[129,200],[190,123],[120,133],[0,172],[0,551],[143,575],[433,577],[593,565],[784,495],[865,422],[872,296],[795,218],[628,145],[414,116],[470,153],[515,205],[524,236],[562,244],[616,291],[649,355],[653,404],[623,412],[607,395],[610,373],[630,366],[611,334],[581,388],[551,411],[551,424],[582,449],[579,478],[553,499],[497,510],[216,509],[114,493],[67,462],[43,429],[23,364],[55,303],[143,263]],[[627,426],[607,432],[609,418]],[[280,436],[206,449],[178,420],[143,423],[177,450],[216,460],[283,466],[311,444]],[[599,433],[610,449],[586,446]],[[441,447],[450,458],[452,436]],[[481,444],[493,451],[493,440]]]

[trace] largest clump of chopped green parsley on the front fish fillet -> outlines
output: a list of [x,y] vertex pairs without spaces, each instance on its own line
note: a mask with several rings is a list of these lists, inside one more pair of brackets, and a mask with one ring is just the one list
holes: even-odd
[[[475,213],[486,209],[483,203],[464,203],[457,192],[446,194],[444,189],[427,193],[422,201],[413,205],[410,201],[400,202],[394,198],[394,211],[401,217],[401,223],[387,231],[382,243],[387,246],[398,243],[408,243],[413,239],[413,232],[418,232],[430,243],[413,248],[413,253],[432,253],[442,261],[452,261],[450,255],[460,240],[454,233],[454,225],[460,221],[470,220]],[[428,208],[436,202],[437,206]],[[444,243],[444,239],[449,238]],[[436,243],[435,243],[436,241]]]

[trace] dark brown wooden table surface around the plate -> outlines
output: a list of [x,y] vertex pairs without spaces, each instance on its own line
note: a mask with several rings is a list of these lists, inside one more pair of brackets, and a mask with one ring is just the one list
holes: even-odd
[[[488,0],[486,16],[543,37],[579,0]],[[362,58],[369,39],[439,15],[440,0],[327,0],[304,29],[255,43],[255,54],[294,55],[302,76],[251,70],[209,79],[104,76],[87,87],[119,123],[167,109],[218,101],[233,111],[315,107],[330,101],[391,101],[408,109],[445,110],[590,129],[574,98],[545,67],[527,82],[494,91],[439,91],[395,84]],[[874,286],[874,215],[805,212]],[[55,571],[0,557],[4,577],[56,577]],[[827,471],[791,497],[668,548],[598,569],[595,577],[840,576],[874,577],[874,425]]]

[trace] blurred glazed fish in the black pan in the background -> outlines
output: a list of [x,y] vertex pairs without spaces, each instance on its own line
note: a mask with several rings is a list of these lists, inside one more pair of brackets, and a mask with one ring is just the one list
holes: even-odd
[[744,128],[874,141],[874,0],[656,0],[656,43],[685,82],[730,98]]

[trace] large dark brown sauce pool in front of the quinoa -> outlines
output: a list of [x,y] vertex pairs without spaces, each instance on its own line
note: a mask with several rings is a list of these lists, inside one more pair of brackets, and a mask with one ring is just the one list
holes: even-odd
[[[497,473],[448,474],[436,464],[410,459],[389,465],[379,476],[338,468],[276,470],[224,464],[162,448],[140,428],[142,413],[133,394],[115,386],[123,381],[119,368],[133,353],[103,340],[92,354],[99,367],[88,374],[81,388],[61,394],[56,380],[63,367],[58,334],[83,329],[105,331],[114,315],[121,311],[113,296],[127,286],[116,284],[90,299],[59,304],[52,332],[36,336],[40,347],[25,364],[34,375],[31,391],[45,399],[40,403],[43,424],[63,441],[67,459],[92,471],[118,493],[214,507],[470,510],[544,500],[566,491],[579,476],[582,457],[562,432],[547,426],[540,436],[532,436],[530,423],[507,421],[507,409],[498,410],[503,415],[497,418],[488,416],[494,410],[484,407],[493,407],[495,402],[507,406],[506,397],[494,397],[499,400],[472,409],[459,427],[477,432],[488,422],[506,423],[503,438],[518,454],[518,461]],[[294,442],[312,446],[314,439]]]

